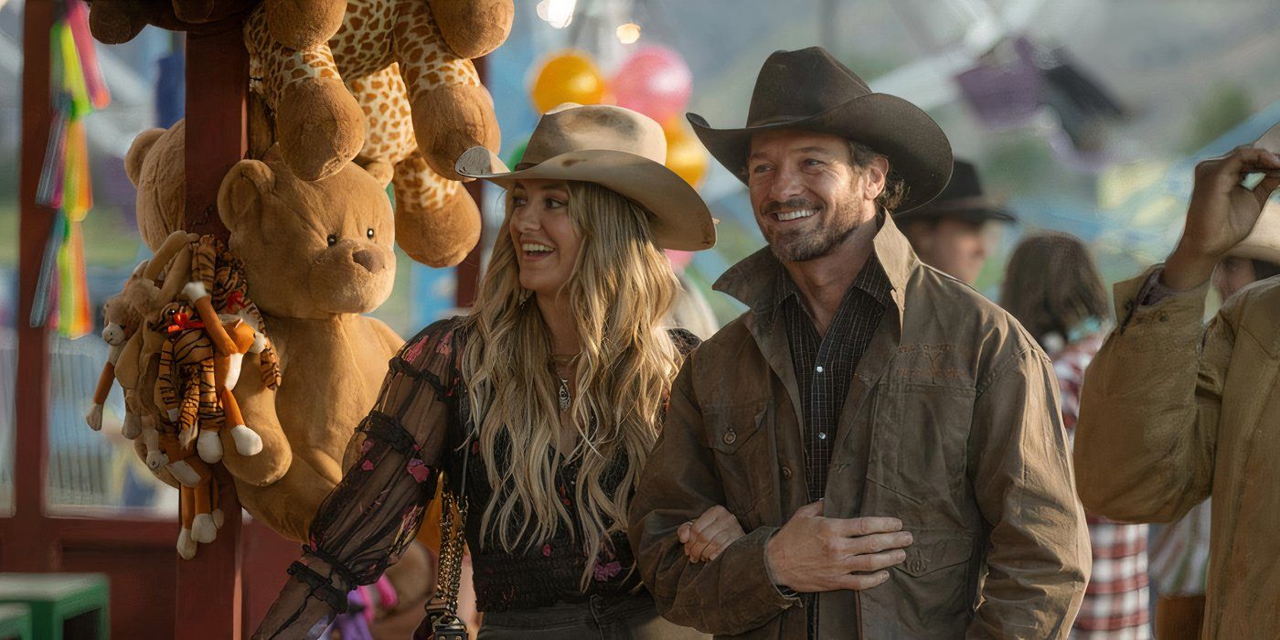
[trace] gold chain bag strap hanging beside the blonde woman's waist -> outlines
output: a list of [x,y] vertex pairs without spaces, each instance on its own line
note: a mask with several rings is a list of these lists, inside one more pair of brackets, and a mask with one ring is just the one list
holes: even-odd
[[[471,448],[463,444],[461,486],[457,494],[442,474],[440,481],[440,562],[435,596],[426,603],[426,617],[413,632],[413,640],[467,640],[467,625],[458,618],[458,591],[462,588],[462,554],[467,522],[467,460]],[[456,517],[454,517],[456,516]]]

